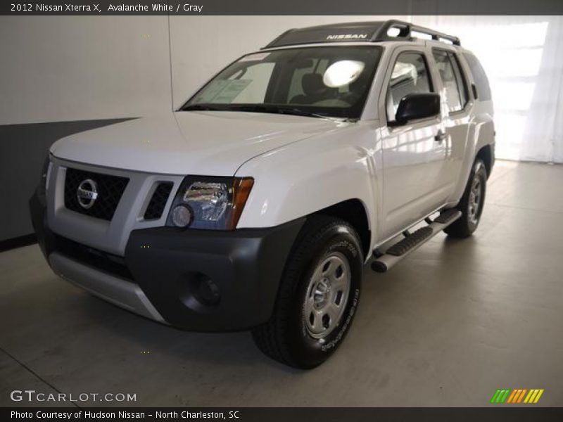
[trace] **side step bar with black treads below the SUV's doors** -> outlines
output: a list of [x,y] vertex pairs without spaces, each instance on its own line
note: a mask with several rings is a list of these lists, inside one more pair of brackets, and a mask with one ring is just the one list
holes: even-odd
[[441,212],[434,221],[429,218],[425,219],[428,226],[421,227],[412,234],[405,232],[405,238],[392,245],[383,255],[379,255],[379,257],[372,262],[372,269],[379,273],[388,271],[393,265],[411,252],[417,250],[419,246],[424,245],[424,243],[436,236],[436,234],[440,233],[461,216],[462,212],[460,210],[452,208]]

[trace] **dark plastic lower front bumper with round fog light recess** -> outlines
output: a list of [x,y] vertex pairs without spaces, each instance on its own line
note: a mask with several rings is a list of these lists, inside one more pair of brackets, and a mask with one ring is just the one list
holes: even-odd
[[[37,193],[30,200],[30,210],[47,259],[52,252],[68,256],[80,249],[62,250],[60,236],[46,224],[44,200]],[[131,275],[129,281],[137,283],[172,326],[190,331],[251,328],[270,318],[282,271],[304,222],[303,218],[266,229],[234,231],[171,227],[134,230],[123,265]],[[70,258],[96,266],[103,254],[96,251],[96,257],[88,260],[84,256],[87,253],[77,252]],[[213,300],[202,295],[202,291],[209,292],[203,284],[213,286]]]

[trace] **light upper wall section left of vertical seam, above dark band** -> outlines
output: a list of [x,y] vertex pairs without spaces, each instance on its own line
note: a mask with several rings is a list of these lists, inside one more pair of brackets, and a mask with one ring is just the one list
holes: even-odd
[[0,124],[170,108],[166,16],[2,16],[0,57]]

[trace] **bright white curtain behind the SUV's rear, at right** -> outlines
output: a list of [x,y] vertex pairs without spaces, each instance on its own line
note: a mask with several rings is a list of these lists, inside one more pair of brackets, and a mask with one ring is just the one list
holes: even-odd
[[496,155],[563,162],[563,16],[412,16],[460,37],[491,82]]

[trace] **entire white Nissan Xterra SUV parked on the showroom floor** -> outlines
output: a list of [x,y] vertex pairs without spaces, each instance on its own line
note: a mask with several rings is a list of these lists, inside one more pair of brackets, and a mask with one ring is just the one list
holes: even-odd
[[54,143],[32,221],[63,279],[185,330],[251,329],[312,368],[350,330],[365,264],[474,232],[494,134],[457,37],[396,20],[290,30],[174,113]]

